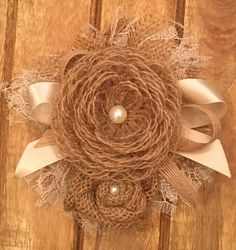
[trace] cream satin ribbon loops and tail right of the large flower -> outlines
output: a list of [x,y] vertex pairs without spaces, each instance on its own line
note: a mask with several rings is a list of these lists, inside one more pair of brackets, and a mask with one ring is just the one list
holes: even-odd
[[[193,128],[211,124],[211,118],[205,112],[196,109],[195,105],[202,105],[218,119],[221,119],[227,105],[219,91],[210,83],[201,79],[183,79],[177,82],[186,103],[182,109],[182,136],[194,142],[205,144],[192,152],[178,152],[180,155],[209,167],[221,174],[231,177],[224,149],[219,139],[211,141],[211,137]],[[218,124],[219,126],[220,124]]]

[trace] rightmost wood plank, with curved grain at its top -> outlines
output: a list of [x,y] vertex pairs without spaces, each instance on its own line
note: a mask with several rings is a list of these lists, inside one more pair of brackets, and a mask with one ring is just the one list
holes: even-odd
[[171,227],[170,249],[236,249],[236,2],[186,0],[185,32],[197,36],[201,53],[212,57],[205,77],[219,87],[229,105],[221,135],[232,178],[220,174],[204,190],[196,209],[179,209]]

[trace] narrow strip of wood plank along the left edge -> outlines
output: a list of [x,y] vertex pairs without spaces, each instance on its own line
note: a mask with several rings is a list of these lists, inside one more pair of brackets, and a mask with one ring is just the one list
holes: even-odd
[[[12,73],[13,68],[13,56],[14,56],[14,43],[15,43],[15,23],[16,23],[16,6],[14,2],[2,1],[0,4],[0,52],[1,52],[1,82],[6,81]],[[10,27],[12,32],[10,32]],[[5,208],[6,203],[6,158],[7,158],[7,147],[6,142],[9,135],[8,125],[9,122],[7,117],[9,115],[9,110],[5,105],[5,100],[3,93],[1,93],[0,99],[0,247],[5,249]]]

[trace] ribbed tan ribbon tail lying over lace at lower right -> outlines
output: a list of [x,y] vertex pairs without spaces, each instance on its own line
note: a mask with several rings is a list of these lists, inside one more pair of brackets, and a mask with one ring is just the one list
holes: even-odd
[[196,205],[197,189],[174,162],[167,162],[166,166],[161,169],[160,173],[184,199],[186,199],[191,205]]

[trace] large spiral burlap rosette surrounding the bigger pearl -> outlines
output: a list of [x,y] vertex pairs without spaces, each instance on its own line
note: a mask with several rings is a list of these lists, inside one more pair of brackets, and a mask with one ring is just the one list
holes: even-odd
[[[109,119],[115,105],[127,110],[122,124]],[[138,49],[111,47],[67,71],[53,129],[61,152],[84,174],[144,179],[176,148],[180,106],[171,69]]]

